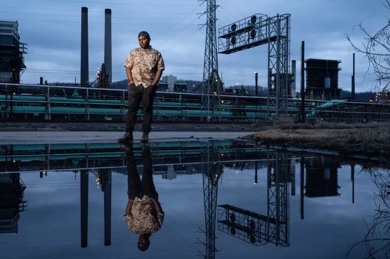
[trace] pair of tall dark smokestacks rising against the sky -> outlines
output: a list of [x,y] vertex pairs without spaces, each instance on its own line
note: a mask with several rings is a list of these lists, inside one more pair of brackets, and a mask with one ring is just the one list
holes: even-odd
[[[104,64],[109,85],[112,84],[111,9],[105,10]],[[81,87],[89,87],[88,70],[88,8],[81,8]]]

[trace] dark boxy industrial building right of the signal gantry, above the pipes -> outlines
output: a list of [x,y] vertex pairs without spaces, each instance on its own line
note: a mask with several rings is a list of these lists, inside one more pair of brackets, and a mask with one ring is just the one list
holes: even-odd
[[340,98],[339,67],[340,60],[314,59],[306,63],[306,98],[310,100],[333,100]]

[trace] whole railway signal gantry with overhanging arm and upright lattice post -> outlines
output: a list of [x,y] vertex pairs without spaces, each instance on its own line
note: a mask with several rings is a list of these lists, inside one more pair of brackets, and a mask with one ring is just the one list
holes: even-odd
[[289,38],[290,14],[268,17],[255,14],[219,29],[219,53],[231,54],[268,44],[268,101],[275,107],[275,118],[287,116],[287,98],[290,95]]

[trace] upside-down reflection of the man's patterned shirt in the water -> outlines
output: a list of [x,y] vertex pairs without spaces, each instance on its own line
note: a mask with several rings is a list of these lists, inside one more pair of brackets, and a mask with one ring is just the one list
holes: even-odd
[[142,200],[138,197],[134,199],[131,214],[123,217],[134,234],[153,234],[163,225],[164,212],[158,213],[152,199],[144,195]]

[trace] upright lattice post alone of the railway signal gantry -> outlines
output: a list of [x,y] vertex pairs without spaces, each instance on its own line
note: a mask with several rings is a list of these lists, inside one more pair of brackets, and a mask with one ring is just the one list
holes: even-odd
[[275,118],[287,116],[289,95],[290,15],[268,18],[268,114],[275,108]]

